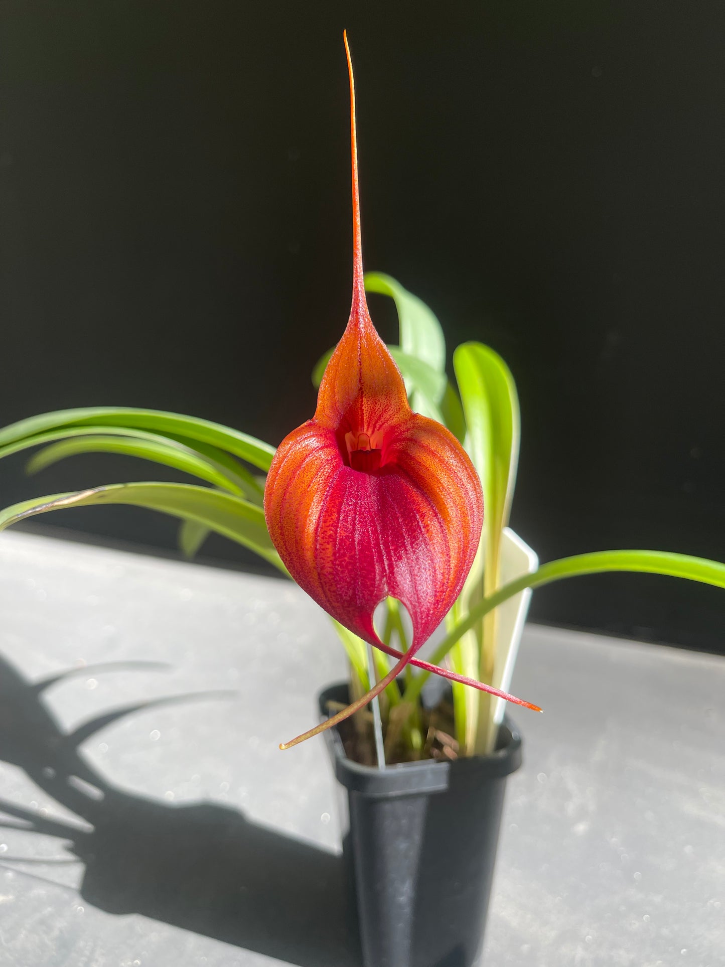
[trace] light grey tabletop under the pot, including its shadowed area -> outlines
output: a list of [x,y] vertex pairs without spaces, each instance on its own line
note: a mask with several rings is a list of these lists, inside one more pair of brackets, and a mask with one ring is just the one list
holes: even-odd
[[[359,964],[302,591],[9,533],[0,614],[0,965]],[[725,659],[529,626],[513,689],[485,963],[724,964]]]

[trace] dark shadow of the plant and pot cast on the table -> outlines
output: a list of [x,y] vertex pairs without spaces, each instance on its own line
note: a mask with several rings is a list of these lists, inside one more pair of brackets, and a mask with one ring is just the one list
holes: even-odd
[[0,759],[21,768],[93,831],[4,800],[0,811],[10,821],[1,826],[70,840],[68,848],[85,864],[81,895],[109,913],[143,914],[299,967],[359,967],[340,856],[257,826],[237,809],[166,806],[114,788],[87,765],[77,744],[109,718],[141,706],[93,719],[73,739],[43,704],[43,689],[57,681],[28,682],[0,658]]

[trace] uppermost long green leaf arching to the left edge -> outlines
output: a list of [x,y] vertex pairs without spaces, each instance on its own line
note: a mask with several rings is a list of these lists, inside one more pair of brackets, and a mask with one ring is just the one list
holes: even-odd
[[6,447],[29,436],[59,429],[62,426],[103,425],[145,429],[165,436],[179,435],[209,444],[246,460],[260,470],[270,469],[275,448],[229,426],[199,420],[179,413],[112,406],[92,406],[82,409],[57,410],[37,417],[20,420],[0,429],[0,447]]

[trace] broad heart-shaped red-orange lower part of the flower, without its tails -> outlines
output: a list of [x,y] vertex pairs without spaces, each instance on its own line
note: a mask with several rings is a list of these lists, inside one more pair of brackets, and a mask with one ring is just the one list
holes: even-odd
[[378,643],[372,619],[388,595],[408,609],[413,649],[435,630],[478,547],[476,471],[442,425],[410,414],[375,474],[346,465],[315,420],[282,442],[270,469],[270,536],[295,580],[342,625]]

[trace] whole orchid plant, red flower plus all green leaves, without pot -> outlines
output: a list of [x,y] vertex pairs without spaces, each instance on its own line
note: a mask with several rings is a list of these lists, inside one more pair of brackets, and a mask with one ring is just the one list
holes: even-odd
[[[438,320],[394,279],[373,275],[367,279],[368,291],[391,296],[398,308],[402,346],[391,350],[409,382],[414,409],[422,403],[425,415],[411,409],[400,371],[375,332],[365,302],[355,87],[346,38],[345,48],[353,301],[343,337],[332,356],[326,354],[315,367],[320,388],[313,418],[290,433],[276,453],[241,430],[158,410],[94,406],[21,420],[0,428],[0,459],[35,450],[28,463],[31,473],[74,454],[111,453],[153,460],[200,483],[107,484],[36,497],[0,511],[0,531],[40,513],[121,504],[179,518],[180,546],[189,557],[210,532],[238,542],[285,576],[295,577],[333,616],[354,668],[353,681],[366,677],[361,639],[396,659],[390,668],[379,655],[381,680],[374,688],[282,748],[347,718],[389,685],[389,696],[397,693],[399,708],[415,716],[423,683],[432,672],[453,682],[459,754],[486,754],[496,733],[486,692],[540,711],[487,684],[494,680],[492,669],[507,664],[507,657],[502,662],[498,656],[491,632],[499,605],[529,588],[605,571],[667,574],[725,588],[725,564],[667,551],[610,550],[550,561],[502,583],[499,548],[513,494],[519,436],[513,376],[490,347],[465,343],[453,354],[459,398],[445,373]],[[427,418],[431,416],[449,428]],[[482,540],[477,471],[486,502]],[[397,627],[402,652],[391,648],[386,633],[381,641],[375,631],[373,615],[384,600],[389,624],[393,610],[397,614],[392,600],[401,601],[410,615],[414,634],[409,648]],[[444,617],[448,633],[432,661],[419,659],[420,647]],[[447,659],[453,670],[439,666]],[[421,672],[406,675],[400,695],[393,680],[406,665]],[[478,689],[478,702],[459,686]],[[398,717],[398,726],[401,721]],[[416,731],[410,729],[413,751]]]

